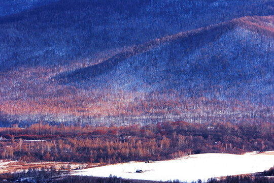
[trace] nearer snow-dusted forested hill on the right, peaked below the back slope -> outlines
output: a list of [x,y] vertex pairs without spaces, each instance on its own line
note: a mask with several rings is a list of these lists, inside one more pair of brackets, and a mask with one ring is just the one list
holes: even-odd
[[[77,83],[76,86],[83,83],[81,87],[90,92],[99,86],[110,95],[104,101],[108,105],[122,92],[117,103],[121,98],[130,102],[122,103],[126,106],[122,112],[110,113],[141,113],[143,120],[154,123],[166,117],[199,123],[270,122],[272,23],[273,16],[245,17],[179,33],[130,48],[100,64],[67,72],[66,77],[62,73],[55,79]],[[102,113],[113,110],[104,104],[101,107]]]

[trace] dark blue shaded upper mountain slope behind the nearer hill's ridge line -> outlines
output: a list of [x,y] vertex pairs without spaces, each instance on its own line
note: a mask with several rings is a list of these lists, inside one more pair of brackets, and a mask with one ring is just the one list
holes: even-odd
[[233,18],[272,15],[273,7],[271,0],[62,0],[0,18],[0,68],[79,59],[96,64],[98,55],[113,56],[126,47]]

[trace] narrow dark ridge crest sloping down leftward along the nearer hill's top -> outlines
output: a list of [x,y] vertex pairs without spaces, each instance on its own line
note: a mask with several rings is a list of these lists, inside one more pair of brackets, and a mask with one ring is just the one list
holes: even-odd
[[[72,79],[75,82],[77,80],[81,80],[81,78],[87,79],[90,77],[94,77],[94,76],[96,76],[96,74],[104,73],[104,70],[112,69],[113,67],[117,66],[120,62],[122,62],[122,60],[124,60],[130,56],[133,56],[133,55],[136,55],[136,54],[139,54],[142,52],[146,52],[149,49],[155,48],[160,44],[172,43],[174,41],[187,41],[187,40],[193,39],[193,37],[195,37],[195,36],[200,36],[201,34],[207,34],[207,33],[213,34],[213,32],[216,32],[216,29],[218,29],[218,28],[221,28],[221,31],[216,33],[217,34],[216,37],[224,34],[225,32],[229,31],[232,28],[235,28],[236,26],[239,26],[239,27],[248,29],[249,31],[253,31],[256,33],[260,32],[260,34],[262,34],[264,36],[269,36],[271,38],[274,38],[274,27],[273,26],[272,27],[271,26],[262,26],[262,25],[258,24],[258,20],[257,20],[258,18],[264,19],[266,21],[272,20],[271,23],[273,25],[274,16],[264,16],[264,17],[256,17],[255,16],[255,17],[237,18],[237,19],[230,20],[228,22],[222,22],[222,23],[218,23],[218,24],[214,24],[214,25],[210,25],[210,26],[206,26],[206,27],[193,29],[193,30],[187,31],[187,32],[180,32],[175,35],[158,38],[156,40],[149,41],[145,44],[134,46],[132,48],[128,48],[125,51],[118,53],[117,55],[113,56],[112,58],[109,58],[109,59],[105,60],[104,62],[99,63],[97,65],[80,68],[75,71],[69,71],[69,72],[67,72],[67,74],[61,74],[59,77],[61,77],[62,79],[64,79],[65,77],[68,77],[69,79],[76,77],[77,79]],[[255,22],[253,23],[252,21],[255,21]],[[205,35],[205,36],[208,37],[209,35]],[[183,39],[185,39],[185,40],[183,40]],[[67,75],[67,76],[65,76],[65,75]],[[57,78],[58,78],[58,76],[57,76]]]

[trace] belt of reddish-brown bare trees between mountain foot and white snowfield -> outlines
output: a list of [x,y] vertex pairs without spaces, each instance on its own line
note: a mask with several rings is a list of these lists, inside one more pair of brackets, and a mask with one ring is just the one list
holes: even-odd
[[51,126],[0,132],[2,159],[114,164],[166,160],[200,153],[274,149],[274,125],[192,124],[183,121],[129,127]]

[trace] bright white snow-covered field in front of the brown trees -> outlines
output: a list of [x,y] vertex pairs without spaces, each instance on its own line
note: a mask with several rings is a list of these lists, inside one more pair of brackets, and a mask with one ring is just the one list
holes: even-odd
[[[132,162],[74,171],[74,175],[108,177],[110,174],[128,179],[196,181],[210,177],[264,171],[274,166],[274,151],[265,153],[199,154],[178,160],[153,163]],[[144,173],[135,173],[141,169]]]

